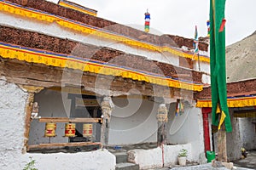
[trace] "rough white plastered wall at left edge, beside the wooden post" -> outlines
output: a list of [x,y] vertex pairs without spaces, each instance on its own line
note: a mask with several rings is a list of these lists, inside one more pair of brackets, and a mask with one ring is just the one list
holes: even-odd
[[27,94],[0,77],[0,169],[21,169]]

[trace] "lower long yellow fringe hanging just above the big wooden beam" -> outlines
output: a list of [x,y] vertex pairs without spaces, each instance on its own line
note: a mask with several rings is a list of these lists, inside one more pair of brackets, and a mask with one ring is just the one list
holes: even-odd
[[30,63],[40,63],[44,65],[53,65],[57,67],[67,67],[71,69],[78,69],[81,71],[89,71],[96,74],[112,75],[124,78],[131,78],[137,81],[150,82],[161,86],[172,88],[183,88],[193,91],[201,91],[202,84],[195,84],[193,82],[183,82],[168,77],[156,75],[146,71],[134,71],[130,68],[124,68],[119,65],[109,65],[96,60],[79,59],[74,56],[67,56],[64,54],[47,54],[44,51],[33,50],[32,48],[22,48],[1,42],[0,55],[3,58],[25,60]]

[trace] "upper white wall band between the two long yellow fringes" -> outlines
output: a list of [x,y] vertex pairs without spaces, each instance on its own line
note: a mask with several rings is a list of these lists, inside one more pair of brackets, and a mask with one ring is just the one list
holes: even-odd
[[[13,26],[28,31],[37,31],[53,37],[68,38],[73,41],[89,43],[98,47],[109,47],[127,54],[135,54],[143,56],[147,59],[158,60],[171,65],[179,65],[179,59],[176,55],[170,53],[160,53],[158,51],[149,51],[143,48],[131,47],[121,42],[110,41],[105,38],[94,37],[93,35],[85,35],[79,31],[64,28],[58,24],[48,23],[21,17],[16,14],[7,14],[0,12],[0,24],[3,26]],[[76,50],[74,48],[73,50]],[[209,64],[201,62],[201,71],[209,72]]]

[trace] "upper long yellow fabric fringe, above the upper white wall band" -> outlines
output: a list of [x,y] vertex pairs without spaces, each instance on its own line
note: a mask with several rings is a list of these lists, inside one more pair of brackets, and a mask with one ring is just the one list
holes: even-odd
[[[170,48],[167,46],[157,46],[147,42],[140,42],[129,37],[120,36],[111,32],[102,31],[99,28],[93,26],[87,26],[84,23],[74,21],[74,20],[66,20],[63,17],[58,17],[53,14],[45,14],[41,11],[35,11],[32,8],[24,8],[16,6],[15,4],[9,4],[5,2],[0,2],[0,10],[12,13],[12,14],[20,14],[22,16],[26,16],[29,18],[34,18],[37,20],[45,20],[48,22],[57,22],[59,25],[73,29],[75,31],[82,31],[85,34],[91,34],[96,37],[102,37],[106,39],[110,39],[116,42],[123,42],[127,45],[137,47],[137,48],[146,48],[152,51],[158,51],[160,53],[169,52],[171,54],[175,54],[184,58],[194,59],[194,54],[184,53],[175,48]],[[198,58],[195,58],[195,60]],[[210,62],[210,58],[206,56],[200,56],[200,60],[204,62]]]

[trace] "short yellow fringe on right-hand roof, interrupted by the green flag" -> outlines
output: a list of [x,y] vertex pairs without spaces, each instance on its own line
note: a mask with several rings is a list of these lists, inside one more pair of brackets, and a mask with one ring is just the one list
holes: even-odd
[[[254,105],[256,105],[256,96],[228,99],[229,107],[247,107],[247,106],[254,106]],[[212,100],[199,99],[196,102],[196,107],[212,107]]]

